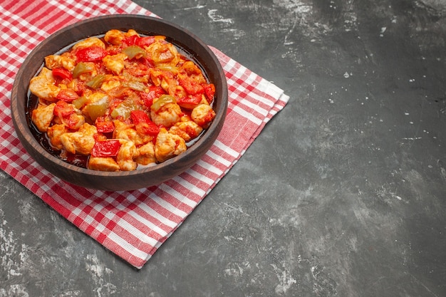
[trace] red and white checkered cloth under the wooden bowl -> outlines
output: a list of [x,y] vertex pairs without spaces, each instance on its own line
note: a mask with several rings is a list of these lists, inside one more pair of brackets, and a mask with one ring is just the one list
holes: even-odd
[[221,134],[197,164],[157,187],[130,192],[103,192],[63,182],[38,165],[16,136],[10,110],[14,77],[28,53],[48,35],[76,21],[106,14],[155,16],[130,0],[1,1],[0,168],[140,269],[242,157],[289,97],[212,48],[227,77],[229,108]]

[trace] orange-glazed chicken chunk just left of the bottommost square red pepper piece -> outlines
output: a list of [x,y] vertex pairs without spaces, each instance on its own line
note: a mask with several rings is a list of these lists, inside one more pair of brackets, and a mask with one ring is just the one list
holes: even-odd
[[68,132],[61,135],[61,142],[65,150],[72,154],[90,155],[95,145],[94,135],[98,133],[95,126],[88,123],[81,125],[77,132]]

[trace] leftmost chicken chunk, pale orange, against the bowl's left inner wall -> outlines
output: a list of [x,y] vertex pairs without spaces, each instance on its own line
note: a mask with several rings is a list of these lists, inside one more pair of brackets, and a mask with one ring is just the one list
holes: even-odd
[[54,79],[51,70],[43,67],[41,73],[31,78],[29,82],[29,90],[31,90],[31,93],[38,98],[55,102],[57,100],[57,94],[61,90],[61,88],[58,88],[55,84],[56,80]]

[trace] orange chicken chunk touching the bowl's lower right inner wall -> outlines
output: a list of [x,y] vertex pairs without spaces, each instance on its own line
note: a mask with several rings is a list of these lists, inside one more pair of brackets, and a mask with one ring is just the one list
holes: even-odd
[[155,157],[158,162],[165,162],[186,150],[186,142],[182,137],[170,134],[165,128],[160,129],[155,142]]

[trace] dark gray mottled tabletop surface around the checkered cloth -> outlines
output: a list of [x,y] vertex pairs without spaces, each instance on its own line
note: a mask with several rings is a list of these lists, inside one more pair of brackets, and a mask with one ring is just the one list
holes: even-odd
[[136,1],[289,104],[137,271],[0,172],[0,296],[446,296],[446,3]]

